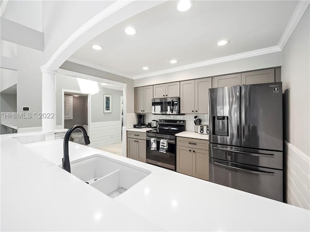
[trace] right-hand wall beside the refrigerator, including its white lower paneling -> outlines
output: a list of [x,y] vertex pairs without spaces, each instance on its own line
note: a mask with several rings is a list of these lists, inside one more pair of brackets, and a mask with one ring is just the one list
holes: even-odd
[[287,202],[310,209],[309,7],[282,49]]

